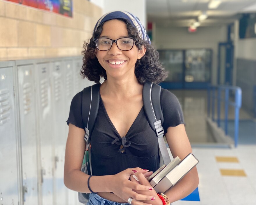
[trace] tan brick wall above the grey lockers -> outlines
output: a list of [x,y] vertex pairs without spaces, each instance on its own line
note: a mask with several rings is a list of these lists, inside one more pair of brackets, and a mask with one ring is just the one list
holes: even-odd
[[0,60],[77,56],[102,9],[73,0],[73,17],[0,0]]

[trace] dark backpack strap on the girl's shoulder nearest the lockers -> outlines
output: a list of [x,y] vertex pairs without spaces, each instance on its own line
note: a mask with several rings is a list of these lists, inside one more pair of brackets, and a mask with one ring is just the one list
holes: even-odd
[[85,128],[84,140],[86,142],[86,149],[88,149],[90,173],[92,173],[91,163],[91,148],[90,148],[90,133],[92,133],[95,121],[99,110],[99,87],[100,84],[94,84],[83,89],[82,95],[82,120]]

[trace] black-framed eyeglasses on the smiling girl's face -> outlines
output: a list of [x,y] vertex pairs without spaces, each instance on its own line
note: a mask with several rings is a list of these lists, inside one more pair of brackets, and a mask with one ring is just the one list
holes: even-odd
[[117,47],[122,51],[129,51],[132,49],[134,45],[134,39],[129,37],[120,38],[116,40],[112,40],[109,38],[97,38],[93,40],[95,42],[97,49],[100,51],[107,51],[111,49],[114,42],[116,43]]

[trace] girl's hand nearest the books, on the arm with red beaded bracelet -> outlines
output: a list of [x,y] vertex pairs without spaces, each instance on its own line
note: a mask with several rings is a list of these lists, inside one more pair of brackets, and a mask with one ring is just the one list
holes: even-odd
[[[151,174],[152,174],[152,172],[151,172]],[[134,173],[134,174],[131,175],[131,181],[134,182],[134,183],[137,183],[137,184],[141,184],[141,185],[152,187],[151,184],[147,181],[147,177],[149,177],[150,175],[148,175],[147,173],[144,173],[144,174],[143,173],[139,173],[139,172],[138,173]],[[150,200],[150,201],[148,201],[148,200],[141,200],[141,202],[143,202],[143,203],[150,203],[152,205],[163,204],[162,200],[158,197],[158,195],[157,195],[156,191],[154,190],[154,188],[153,188],[152,191],[138,191],[138,190],[133,190],[133,191],[135,191],[138,194],[154,196],[155,200],[153,200],[153,201],[152,200]]]

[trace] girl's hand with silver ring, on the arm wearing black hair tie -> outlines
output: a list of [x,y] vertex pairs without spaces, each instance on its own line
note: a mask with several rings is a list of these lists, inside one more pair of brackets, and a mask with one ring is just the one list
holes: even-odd
[[[133,169],[126,169],[115,175],[111,175],[109,182],[109,192],[113,192],[115,195],[125,200],[126,202],[128,201],[128,198],[133,198],[131,202],[132,205],[150,205],[151,202],[153,202],[152,198],[155,198],[155,195],[150,194],[152,193],[152,187],[129,180],[132,174],[140,173],[143,175],[147,172],[148,170],[136,167]],[[139,194],[139,191],[142,191],[142,193]],[[143,192],[147,194],[143,194]]]

